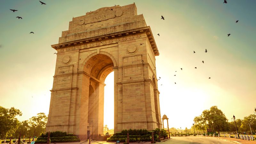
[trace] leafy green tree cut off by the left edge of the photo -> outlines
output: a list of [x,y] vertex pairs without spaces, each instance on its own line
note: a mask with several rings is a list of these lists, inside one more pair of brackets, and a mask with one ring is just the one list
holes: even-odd
[[19,121],[16,116],[21,116],[19,109],[4,108],[0,106],[0,136],[1,138],[12,137],[19,127]]

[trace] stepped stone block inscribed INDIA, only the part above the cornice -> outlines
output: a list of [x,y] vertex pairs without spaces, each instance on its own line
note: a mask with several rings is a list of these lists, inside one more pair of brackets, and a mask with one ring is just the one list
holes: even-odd
[[86,15],[75,17],[63,31],[59,43],[142,28],[147,24],[142,14],[137,15],[135,4],[103,7]]

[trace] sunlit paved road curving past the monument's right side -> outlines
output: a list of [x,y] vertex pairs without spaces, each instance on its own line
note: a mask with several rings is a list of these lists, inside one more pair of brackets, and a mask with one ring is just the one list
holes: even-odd
[[233,142],[202,137],[172,137],[162,144],[234,144]]

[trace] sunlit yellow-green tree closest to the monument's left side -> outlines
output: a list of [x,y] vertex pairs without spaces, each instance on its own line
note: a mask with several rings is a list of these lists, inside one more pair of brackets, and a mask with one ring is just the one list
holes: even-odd
[[38,137],[41,133],[44,133],[47,119],[48,117],[44,113],[38,113],[37,116],[31,117],[28,120],[28,124],[30,126],[28,130],[28,134],[30,136],[34,136],[34,132],[35,132],[35,136]]

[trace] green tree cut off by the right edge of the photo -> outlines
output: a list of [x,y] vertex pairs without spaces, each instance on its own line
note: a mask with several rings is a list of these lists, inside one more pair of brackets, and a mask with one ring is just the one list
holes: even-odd
[[251,125],[252,132],[255,132],[255,130],[256,130],[256,115],[245,116],[241,123],[241,130],[244,132],[251,132],[249,124]]

